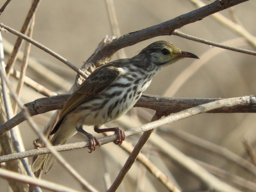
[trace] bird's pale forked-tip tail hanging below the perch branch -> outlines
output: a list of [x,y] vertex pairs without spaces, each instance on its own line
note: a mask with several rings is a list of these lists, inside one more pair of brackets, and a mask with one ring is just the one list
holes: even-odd
[[[76,128],[72,128],[72,126],[70,127],[65,125],[65,127],[63,128],[61,126],[50,140],[53,146],[64,144],[70,137],[72,137],[77,132]],[[67,130],[64,130],[65,128],[67,128]],[[52,168],[55,161],[56,158],[52,154],[40,155],[33,163],[32,171],[35,172],[42,168],[44,174],[47,174]]]

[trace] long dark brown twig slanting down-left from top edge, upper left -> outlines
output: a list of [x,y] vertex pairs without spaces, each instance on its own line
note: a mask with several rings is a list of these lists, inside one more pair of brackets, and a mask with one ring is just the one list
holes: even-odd
[[[22,25],[22,28],[20,30],[20,33],[21,34],[26,34],[28,32],[28,27],[32,21],[32,18],[33,18],[33,15],[34,13],[36,12],[37,8],[38,8],[38,5],[40,3],[40,0],[33,0],[33,3],[30,7],[30,10],[28,11],[28,15]],[[16,42],[15,42],[15,45],[14,45],[14,49],[12,50],[12,53],[9,57],[9,60],[6,64],[6,74],[7,74],[7,77],[9,77],[10,75],[10,70],[11,68],[13,68],[15,62],[16,62],[16,59],[17,59],[17,53],[19,52],[20,48],[21,48],[21,45],[22,45],[22,38],[21,37],[18,37]]]

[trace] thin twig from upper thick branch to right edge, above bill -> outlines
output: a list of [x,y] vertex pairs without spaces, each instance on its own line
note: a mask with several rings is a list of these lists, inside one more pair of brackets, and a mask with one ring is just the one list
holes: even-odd
[[256,56],[256,52],[255,51],[250,51],[250,50],[246,50],[246,49],[241,49],[241,48],[237,48],[237,47],[233,47],[233,46],[228,46],[228,45],[224,45],[224,44],[220,44],[220,43],[216,43],[216,42],[212,42],[212,41],[208,41],[205,39],[201,39],[198,37],[194,37],[185,33],[182,33],[178,30],[174,30],[172,32],[172,35],[176,35],[185,39],[189,39],[192,41],[196,41],[196,42],[200,42],[206,45],[211,45],[211,46],[215,46],[215,47],[220,47],[223,49],[227,49],[227,50],[231,50],[231,51],[235,51],[235,52],[240,52],[240,53],[245,53],[245,54],[249,54],[249,55],[255,55]]

